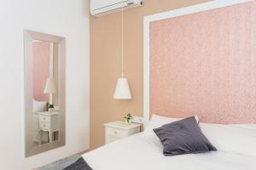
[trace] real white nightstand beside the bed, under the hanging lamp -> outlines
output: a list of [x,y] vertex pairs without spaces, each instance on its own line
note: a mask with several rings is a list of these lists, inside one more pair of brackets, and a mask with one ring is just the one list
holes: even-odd
[[125,123],[122,121],[108,122],[105,126],[105,144],[122,139],[131,134],[140,133],[142,124]]

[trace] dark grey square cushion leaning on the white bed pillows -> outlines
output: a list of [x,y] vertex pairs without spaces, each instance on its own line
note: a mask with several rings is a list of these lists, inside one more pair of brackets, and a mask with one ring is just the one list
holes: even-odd
[[217,150],[201,133],[194,116],[168,123],[153,130],[164,146],[165,156]]

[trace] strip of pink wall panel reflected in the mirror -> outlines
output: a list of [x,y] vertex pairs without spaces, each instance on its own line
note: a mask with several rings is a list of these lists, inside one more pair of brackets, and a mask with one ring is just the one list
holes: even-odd
[[38,101],[48,101],[44,86],[49,77],[49,42],[33,42],[33,97]]

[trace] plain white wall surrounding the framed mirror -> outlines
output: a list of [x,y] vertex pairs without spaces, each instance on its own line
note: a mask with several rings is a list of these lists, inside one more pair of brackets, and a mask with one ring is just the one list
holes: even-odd
[[[0,0],[0,169],[89,149],[89,0]],[[23,31],[67,38],[66,145],[25,158]]]

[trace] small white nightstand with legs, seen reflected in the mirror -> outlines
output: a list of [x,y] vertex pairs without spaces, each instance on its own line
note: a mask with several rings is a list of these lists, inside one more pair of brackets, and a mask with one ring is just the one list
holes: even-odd
[[49,143],[53,141],[53,133],[60,132],[59,112],[58,111],[42,111],[38,112],[39,128],[49,133]]

